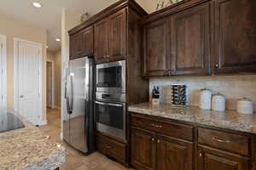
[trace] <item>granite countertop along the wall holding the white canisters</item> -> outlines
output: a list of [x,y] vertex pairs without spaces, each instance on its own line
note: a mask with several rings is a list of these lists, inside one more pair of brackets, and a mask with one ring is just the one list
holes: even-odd
[[256,134],[256,114],[245,115],[236,111],[207,111],[195,106],[178,107],[170,104],[153,106],[149,103],[131,105],[128,107],[128,111]]

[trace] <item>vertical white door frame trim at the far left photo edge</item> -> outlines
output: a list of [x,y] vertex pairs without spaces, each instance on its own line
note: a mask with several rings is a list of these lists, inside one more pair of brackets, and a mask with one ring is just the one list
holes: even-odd
[[0,70],[2,69],[2,78],[0,82],[3,82],[3,88],[0,89],[0,96],[3,101],[3,107],[7,108],[7,36],[1,35],[0,37],[3,38],[3,65],[0,65]]

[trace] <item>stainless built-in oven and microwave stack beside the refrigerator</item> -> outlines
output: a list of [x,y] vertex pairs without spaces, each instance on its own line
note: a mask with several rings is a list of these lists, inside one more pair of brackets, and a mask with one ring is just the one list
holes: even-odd
[[125,60],[96,65],[96,129],[126,142]]

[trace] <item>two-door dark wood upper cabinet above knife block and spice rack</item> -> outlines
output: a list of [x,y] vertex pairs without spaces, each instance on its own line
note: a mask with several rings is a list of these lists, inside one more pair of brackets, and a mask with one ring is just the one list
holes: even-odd
[[207,75],[209,3],[150,22],[144,31],[144,76]]

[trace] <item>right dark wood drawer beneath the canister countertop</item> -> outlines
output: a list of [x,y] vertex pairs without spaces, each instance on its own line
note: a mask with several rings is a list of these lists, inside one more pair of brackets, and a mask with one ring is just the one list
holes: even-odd
[[236,133],[225,133],[222,131],[198,128],[198,142],[208,144],[218,149],[228,150],[237,154],[249,156],[248,136]]

